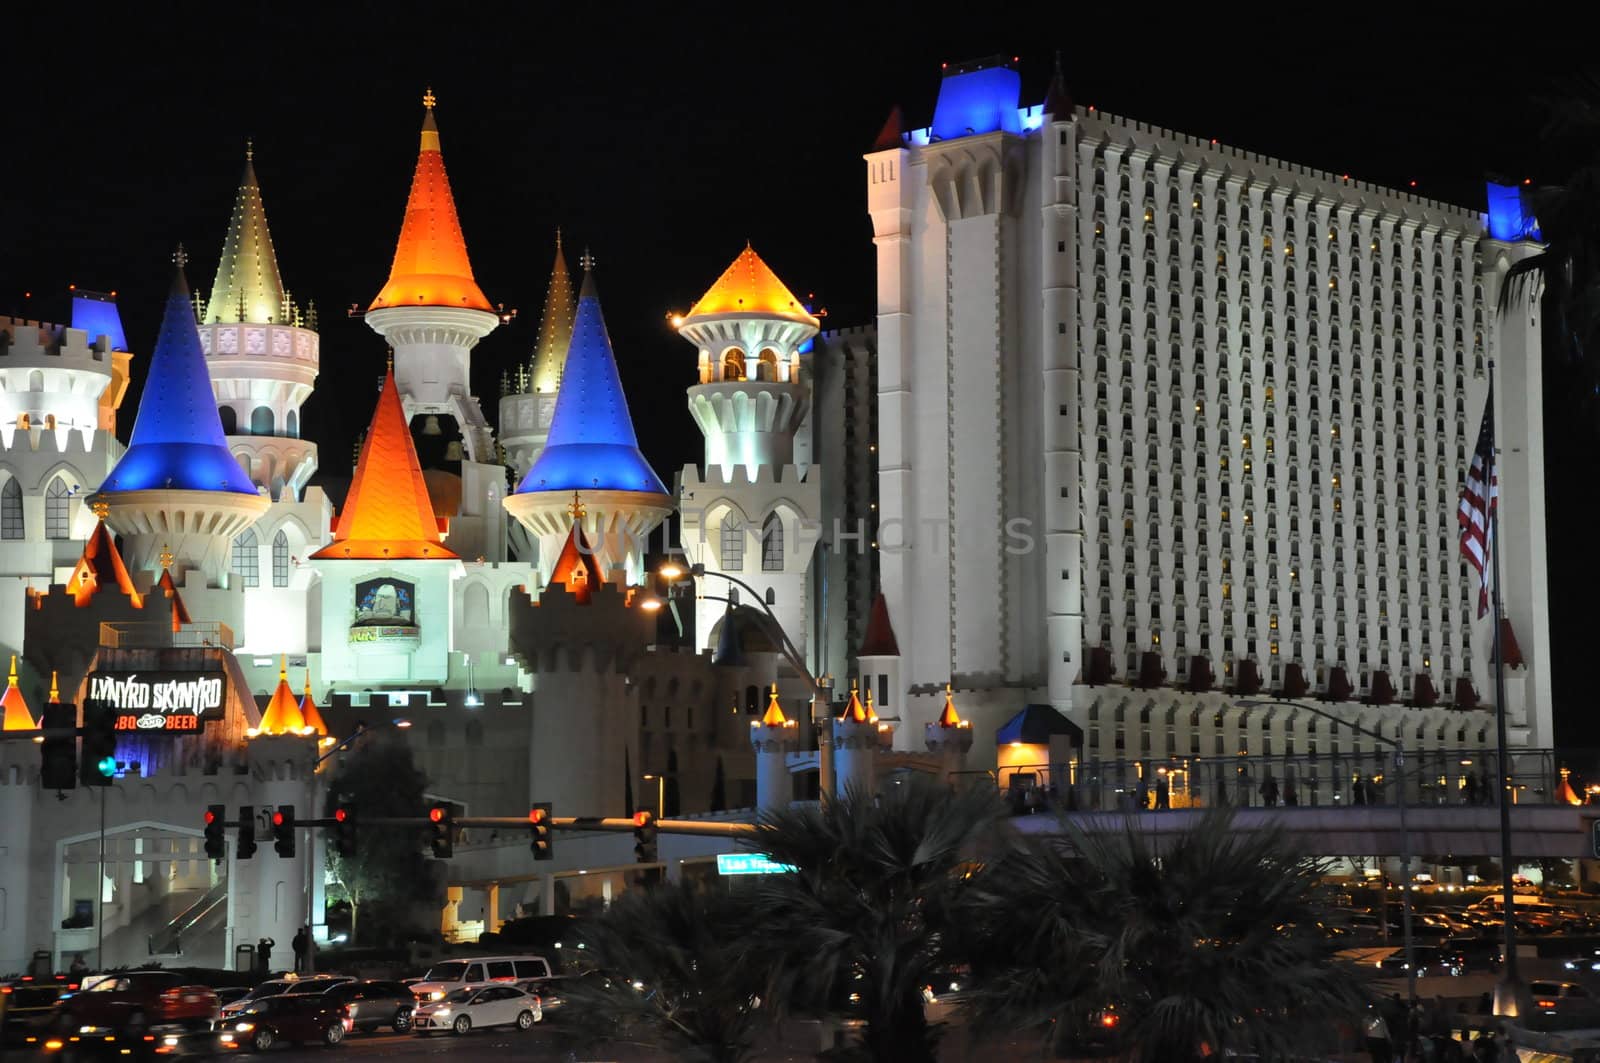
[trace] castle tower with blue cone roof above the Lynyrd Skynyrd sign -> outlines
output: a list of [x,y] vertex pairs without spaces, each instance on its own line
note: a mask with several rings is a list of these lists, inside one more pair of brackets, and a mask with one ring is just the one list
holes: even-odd
[[[211,586],[226,584],[234,536],[270,499],[227,450],[195,328],[182,248],[126,453],[101,485],[106,520],[130,567],[154,572],[165,551]],[[234,620],[222,618],[219,620]]]

